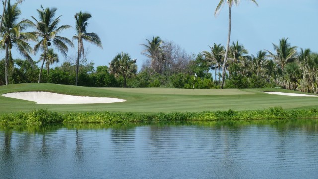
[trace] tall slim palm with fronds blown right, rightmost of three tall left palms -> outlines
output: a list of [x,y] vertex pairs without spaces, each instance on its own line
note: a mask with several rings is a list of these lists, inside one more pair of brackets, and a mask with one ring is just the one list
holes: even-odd
[[76,20],[75,27],[76,27],[77,35],[73,36],[73,40],[76,39],[78,41],[78,55],[76,59],[75,85],[78,85],[79,58],[81,57],[81,55],[85,56],[83,40],[86,40],[87,42],[95,44],[100,48],[103,48],[103,47],[101,44],[101,40],[96,33],[93,33],[93,32],[87,33],[86,31],[86,27],[88,25],[87,21],[91,18],[91,14],[80,11],[79,13],[75,14],[74,18]]

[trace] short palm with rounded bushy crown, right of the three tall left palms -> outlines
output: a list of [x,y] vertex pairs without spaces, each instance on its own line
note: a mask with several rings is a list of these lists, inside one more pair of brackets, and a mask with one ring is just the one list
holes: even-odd
[[126,78],[133,77],[137,72],[136,60],[131,60],[128,53],[118,53],[109,63],[109,70],[115,77],[124,77],[124,87],[127,87]]

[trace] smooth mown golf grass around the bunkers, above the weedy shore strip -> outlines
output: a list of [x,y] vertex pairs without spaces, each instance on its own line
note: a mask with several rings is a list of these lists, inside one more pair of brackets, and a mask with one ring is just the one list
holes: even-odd
[[[112,97],[127,100],[108,104],[36,104],[1,96],[10,92],[45,91],[60,94]],[[200,112],[217,110],[257,110],[280,106],[284,109],[317,108],[317,97],[266,94],[262,91],[292,92],[284,89],[171,89],[94,88],[56,84],[13,84],[0,86],[0,113],[48,109],[58,112]],[[306,94],[306,93],[301,93]]]

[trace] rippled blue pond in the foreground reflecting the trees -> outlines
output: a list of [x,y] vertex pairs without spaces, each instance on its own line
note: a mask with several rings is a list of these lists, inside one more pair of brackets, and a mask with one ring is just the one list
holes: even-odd
[[316,179],[318,120],[0,126],[1,179]]

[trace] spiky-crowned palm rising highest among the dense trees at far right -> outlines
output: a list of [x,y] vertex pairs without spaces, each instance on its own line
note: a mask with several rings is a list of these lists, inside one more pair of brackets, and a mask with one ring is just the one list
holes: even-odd
[[282,70],[284,70],[287,63],[293,62],[296,59],[295,55],[297,53],[297,47],[291,46],[290,43],[287,42],[287,40],[288,38],[282,38],[279,40],[279,45],[273,44],[276,54],[266,50],[273,57],[273,59],[277,62]]

